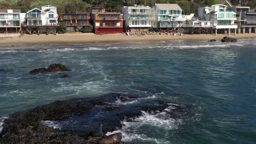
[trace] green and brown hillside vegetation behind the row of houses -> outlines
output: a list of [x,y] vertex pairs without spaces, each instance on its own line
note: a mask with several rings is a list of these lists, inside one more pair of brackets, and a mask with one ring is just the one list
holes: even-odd
[[89,12],[90,7],[104,7],[107,11],[121,12],[124,6],[153,6],[155,3],[177,3],[184,10],[183,14],[196,14],[197,8],[206,5],[225,4],[219,0],[0,0],[0,9],[21,9],[21,12],[25,13],[33,8],[40,9],[43,5],[55,5],[59,14]]

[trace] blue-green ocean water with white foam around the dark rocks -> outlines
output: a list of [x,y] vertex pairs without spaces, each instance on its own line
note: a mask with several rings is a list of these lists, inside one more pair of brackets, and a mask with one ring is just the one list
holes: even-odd
[[[30,75],[62,63],[63,73]],[[68,74],[69,79],[60,76]],[[9,113],[55,100],[107,93],[147,93],[193,105],[189,119],[143,115],[121,122],[126,143],[255,143],[256,39],[0,47],[0,133]],[[139,100],[139,99],[137,99]],[[136,103],[136,100],[120,105]],[[168,107],[172,109],[172,107]],[[168,110],[167,110],[168,111]],[[189,112],[189,111],[188,111]],[[61,128],[61,124],[44,121]]]

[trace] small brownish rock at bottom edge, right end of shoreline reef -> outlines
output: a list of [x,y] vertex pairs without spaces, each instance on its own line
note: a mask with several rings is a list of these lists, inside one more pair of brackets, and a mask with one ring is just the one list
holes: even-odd
[[98,141],[99,144],[112,144],[112,143],[120,143],[122,140],[122,134],[117,133],[113,135],[108,135],[106,137],[103,137],[100,141]]

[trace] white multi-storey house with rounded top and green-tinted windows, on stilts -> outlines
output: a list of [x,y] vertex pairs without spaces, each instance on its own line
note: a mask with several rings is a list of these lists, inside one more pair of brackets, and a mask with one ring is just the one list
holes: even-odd
[[203,7],[198,9],[198,16],[200,20],[211,21],[215,34],[217,35],[218,30],[227,30],[230,34],[231,29],[234,29],[236,34],[237,25],[235,24],[236,13],[231,10],[227,10],[226,5],[216,4],[212,7]]

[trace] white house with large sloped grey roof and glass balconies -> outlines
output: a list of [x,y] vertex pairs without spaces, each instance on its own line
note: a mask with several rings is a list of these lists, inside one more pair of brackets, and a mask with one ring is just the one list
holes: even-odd
[[152,25],[154,28],[179,28],[186,16],[178,4],[155,4],[152,8]]

